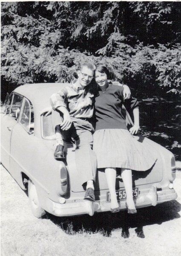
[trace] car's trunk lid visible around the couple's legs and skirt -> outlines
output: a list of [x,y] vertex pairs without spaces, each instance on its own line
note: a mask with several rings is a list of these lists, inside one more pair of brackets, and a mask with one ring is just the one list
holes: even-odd
[[[137,139],[139,139],[137,137]],[[149,139],[144,138],[142,140],[142,143],[144,144]],[[138,171],[132,171],[132,181],[133,181],[133,187],[144,185],[144,184],[151,184],[151,183],[157,183],[160,182],[163,178],[163,165],[161,156],[159,154],[160,146],[158,147],[158,144],[154,143],[153,141],[149,140],[149,144],[153,147],[153,154],[157,157],[157,160],[154,164],[154,166],[144,172],[138,172]],[[68,145],[68,144],[67,144]],[[66,161],[68,164],[69,169],[69,176],[70,176],[70,186],[72,192],[83,192],[83,186],[79,183],[79,173],[76,168],[75,163],[75,145],[68,145],[65,146],[66,151]],[[86,170],[85,170],[86,171]],[[117,175],[116,178],[116,189],[124,188],[124,183],[121,178],[121,169],[117,169]],[[104,173],[104,169],[98,169],[97,177],[96,177],[96,183],[95,183],[95,191],[108,189],[107,182],[106,182],[106,176]]]

